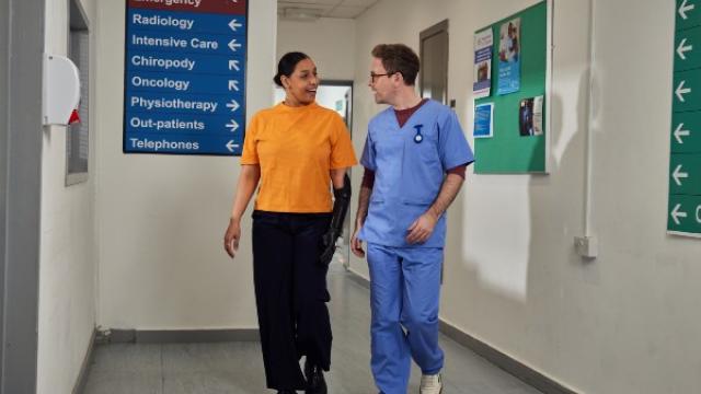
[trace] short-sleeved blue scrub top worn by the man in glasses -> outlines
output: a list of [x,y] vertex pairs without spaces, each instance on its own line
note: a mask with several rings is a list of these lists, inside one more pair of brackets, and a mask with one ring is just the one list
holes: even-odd
[[434,202],[446,172],[474,161],[458,117],[429,100],[399,127],[394,108],[375,116],[360,163],[375,172],[368,216],[359,239],[394,247],[443,247],[446,217],[423,244],[406,243],[409,227]]

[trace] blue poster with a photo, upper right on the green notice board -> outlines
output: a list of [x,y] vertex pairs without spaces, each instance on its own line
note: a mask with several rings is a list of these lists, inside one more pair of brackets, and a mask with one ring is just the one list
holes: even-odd
[[521,19],[516,18],[499,28],[499,80],[497,94],[518,92],[521,88]]

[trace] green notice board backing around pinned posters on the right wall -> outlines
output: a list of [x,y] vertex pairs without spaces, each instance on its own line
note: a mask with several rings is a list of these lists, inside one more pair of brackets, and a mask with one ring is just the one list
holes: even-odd
[[[520,24],[520,86],[516,92],[499,94],[501,35],[505,30],[503,26],[515,20]],[[487,28],[494,37],[492,89],[489,96],[475,100],[474,105],[493,103],[493,136],[474,139],[474,171],[479,174],[547,172],[548,2],[540,2],[478,32]],[[519,123],[521,103],[539,96],[542,97],[542,128],[538,135],[524,136]]]

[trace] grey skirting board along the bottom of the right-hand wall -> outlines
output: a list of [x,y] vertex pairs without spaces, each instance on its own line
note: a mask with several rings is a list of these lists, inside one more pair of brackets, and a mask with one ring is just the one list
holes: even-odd
[[[369,289],[370,282],[358,274],[348,270],[349,278],[356,283]],[[492,346],[474,338],[473,336],[463,333],[459,328],[446,323],[444,320],[439,320],[439,329],[448,338],[457,341],[458,344],[467,347],[475,354],[484,357],[486,360],[503,369],[504,371],[520,379],[525,383],[538,389],[545,394],[577,394],[577,392],[565,387],[559,382],[545,376],[544,374],[533,370],[525,363],[512,358],[510,356],[493,348]]]

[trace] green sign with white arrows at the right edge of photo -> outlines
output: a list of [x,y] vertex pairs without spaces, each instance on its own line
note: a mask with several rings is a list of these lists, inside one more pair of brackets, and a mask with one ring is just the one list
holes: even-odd
[[677,0],[667,230],[701,235],[701,1]]

